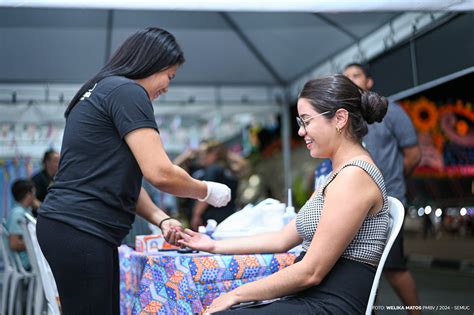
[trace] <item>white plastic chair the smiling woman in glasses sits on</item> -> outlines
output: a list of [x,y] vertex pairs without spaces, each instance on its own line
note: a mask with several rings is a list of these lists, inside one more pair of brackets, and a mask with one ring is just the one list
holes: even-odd
[[375,272],[374,282],[372,283],[372,289],[370,290],[369,302],[367,303],[367,309],[365,310],[365,315],[372,314],[372,306],[374,305],[375,295],[377,294],[377,289],[379,287],[380,275],[383,271],[383,266],[387,260],[388,253],[392,248],[393,242],[397,238],[400,229],[402,228],[403,219],[405,217],[405,208],[402,203],[394,197],[388,197],[388,213],[389,213],[389,223],[388,223],[388,232],[387,232],[387,243],[380,258],[379,265],[377,266],[377,271]]

